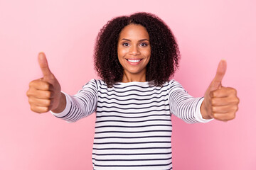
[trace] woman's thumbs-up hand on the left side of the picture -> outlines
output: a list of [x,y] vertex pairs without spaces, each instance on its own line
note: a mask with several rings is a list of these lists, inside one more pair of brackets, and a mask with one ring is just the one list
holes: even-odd
[[43,72],[43,78],[31,81],[26,95],[31,111],[46,113],[58,108],[62,94],[60,84],[50,72],[46,55],[43,52],[38,54],[38,63]]

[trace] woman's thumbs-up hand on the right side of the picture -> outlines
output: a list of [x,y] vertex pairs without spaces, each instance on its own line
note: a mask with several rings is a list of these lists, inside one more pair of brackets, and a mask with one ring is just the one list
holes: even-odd
[[217,73],[206,90],[201,105],[201,114],[205,119],[215,118],[228,121],[234,119],[235,113],[238,111],[239,98],[237,91],[221,85],[226,69],[227,62],[221,60],[218,64]]

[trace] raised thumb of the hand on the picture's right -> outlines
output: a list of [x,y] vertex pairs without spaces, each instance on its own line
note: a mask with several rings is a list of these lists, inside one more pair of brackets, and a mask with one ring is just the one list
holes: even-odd
[[220,88],[221,81],[225,75],[226,69],[227,69],[227,62],[225,60],[220,60],[215,77],[213,81],[210,83],[211,89]]

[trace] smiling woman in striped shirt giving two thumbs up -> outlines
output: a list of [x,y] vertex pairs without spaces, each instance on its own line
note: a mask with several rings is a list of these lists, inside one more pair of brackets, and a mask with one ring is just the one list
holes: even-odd
[[32,111],[51,111],[68,122],[96,113],[94,169],[172,169],[172,114],[187,123],[227,121],[235,118],[239,103],[235,89],[221,86],[225,61],[205,96],[193,98],[169,80],[178,59],[174,35],[160,18],[117,17],[97,36],[95,69],[101,80],[92,79],[74,96],[65,94],[41,52],[43,78],[31,81],[28,101]]

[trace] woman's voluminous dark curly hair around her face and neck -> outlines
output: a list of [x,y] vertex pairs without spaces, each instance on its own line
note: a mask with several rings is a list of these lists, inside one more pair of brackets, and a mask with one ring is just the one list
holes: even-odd
[[178,68],[180,52],[171,29],[152,13],[134,13],[108,21],[97,35],[95,43],[95,70],[107,86],[122,81],[124,69],[117,57],[119,33],[129,24],[139,24],[149,33],[151,57],[146,65],[146,81],[161,86]]

